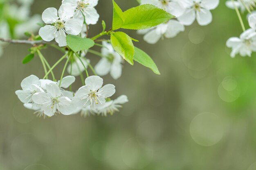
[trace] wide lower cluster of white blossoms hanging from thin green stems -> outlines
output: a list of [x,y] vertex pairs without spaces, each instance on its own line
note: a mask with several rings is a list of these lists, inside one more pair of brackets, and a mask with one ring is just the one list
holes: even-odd
[[102,87],[103,79],[99,76],[86,78],[85,85],[76,93],[65,90],[74,81],[74,76],[66,76],[55,82],[31,75],[21,82],[22,90],[17,90],[16,95],[26,108],[33,109],[38,116],[44,117],[54,116],[55,113],[72,115],[79,112],[83,116],[91,113],[107,116],[118,111],[121,104],[128,102],[125,95],[110,100],[115,94],[115,86],[108,84]]

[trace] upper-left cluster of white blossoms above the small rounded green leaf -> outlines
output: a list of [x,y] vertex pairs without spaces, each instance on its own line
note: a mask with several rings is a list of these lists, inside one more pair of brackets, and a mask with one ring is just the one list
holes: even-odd
[[67,34],[79,35],[83,28],[97,23],[99,14],[94,8],[97,4],[98,0],[63,0],[58,11],[56,8],[47,8],[42,14],[47,25],[40,28],[40,37],[44,41],[55,39],[60,47],[67,46]]

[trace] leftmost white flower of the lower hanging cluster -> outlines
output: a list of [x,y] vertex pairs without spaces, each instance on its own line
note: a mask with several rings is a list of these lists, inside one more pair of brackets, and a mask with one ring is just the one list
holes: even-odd
[[39,78],[37,76],[31,75],[22,80],[21,88],[22,90],[17,90],[15,94],[18,96],[21,102],[29,103],[32,102],[32,96],[37,92],[44,92],[39,86]]

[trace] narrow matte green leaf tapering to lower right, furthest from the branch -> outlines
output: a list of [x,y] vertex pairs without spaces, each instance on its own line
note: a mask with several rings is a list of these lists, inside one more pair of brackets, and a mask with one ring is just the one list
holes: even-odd
[[157,66],[155,65],[155,62],[149,57],[149,55],[137,47],[134,48],[135,54],[133,59],[138,63],[150,68],[155,74],[160,74]]

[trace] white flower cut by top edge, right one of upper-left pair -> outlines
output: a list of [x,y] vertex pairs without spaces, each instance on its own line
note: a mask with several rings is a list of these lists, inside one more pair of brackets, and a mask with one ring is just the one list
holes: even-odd
[[96,24],[99,20],[99,14],[94,8],[98,0],[63,0],[62,4],[70,4],[75,10],[74,18],[78,19],[80,24]]

